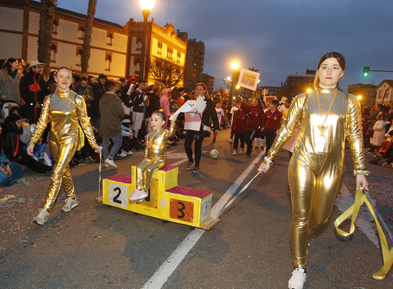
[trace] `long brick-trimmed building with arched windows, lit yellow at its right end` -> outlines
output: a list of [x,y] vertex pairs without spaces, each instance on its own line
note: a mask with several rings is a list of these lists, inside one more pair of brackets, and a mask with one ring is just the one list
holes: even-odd
[[[86,3],[87,11],[87,3]],[[0,58],[37,59],[40,2],[0,0]],[[86,15],[55,8],[50,69],[70,66],[81,73],[81,53]],[[110,78],[139,77],[143,22],[130,19],[125,26],[94,18],[89,75],[107,74]],[[169,57],[184,65],[187,40],[177,37],[172,24],[164,27],[148,22],[146,75],[151,57]],[[152,79],[148,76],[149,84]]]

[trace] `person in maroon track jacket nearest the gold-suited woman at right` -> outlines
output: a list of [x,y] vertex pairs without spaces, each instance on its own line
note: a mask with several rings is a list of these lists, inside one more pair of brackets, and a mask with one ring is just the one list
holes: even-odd
[[263,116],[262,131],[265,132],[266,138],[266,155],[272,146],[275,136],[277,135],[277,130],[280,127],[280,120],[283,114],[277,110],[279,105],[277,99],[273,99],[269,103],[270,110],[266,111]]

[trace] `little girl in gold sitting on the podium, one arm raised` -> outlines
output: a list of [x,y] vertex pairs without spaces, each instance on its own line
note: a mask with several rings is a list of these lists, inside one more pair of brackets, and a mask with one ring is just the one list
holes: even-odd
[[148,196],[148,190],[154,171],[158,171],[167,162],[167,141],[174,135],[176,116],[171,120],[169,130],[163,129],[166,115],[163,109],[151,115],[152,131],[147,134],[143,160],[136,166],[136,189],[130,195],[130,202],[141,202]]

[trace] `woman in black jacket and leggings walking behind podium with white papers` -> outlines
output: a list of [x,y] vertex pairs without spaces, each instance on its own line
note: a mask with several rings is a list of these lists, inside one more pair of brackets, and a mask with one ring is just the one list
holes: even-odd
[[[214,131],[217,131],[217,135],[219,135],[220,124],[217,118],[213,101],[209,98],[208,88],[204,83],[197,83],[195,85],[195,94],[196,96],[201,96],[204,99],[204,101],[206,101],[206,109],[201,117],[199,131],[193,131],[191,129],[187,129],[187,133],[185,134],[185,140],[184,140],[184,148],[185,148],[185,153],[187,154],[188,157],[188,163],[185,169],[189,170],[195,165],[193,172],[198,173],[199,161],[200,161],[200,157],[202,156],[202,142],[205,136],[207,136],[207,134],[210,134],[210,129],[209,131],[206,131],[204,130],[204,127],[209,128],[210,120],[213,121]],[[195,161],[193,160],[193,149],[191,148],[194,139],[195,139],[195,145],[194,145]]]

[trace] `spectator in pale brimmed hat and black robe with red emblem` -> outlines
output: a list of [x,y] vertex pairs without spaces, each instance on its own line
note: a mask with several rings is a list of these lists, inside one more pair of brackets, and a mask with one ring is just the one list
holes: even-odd
[[48,87],[42,77],[42,68],[46,64],[31,59],[24,75],[19,82],[22,116],[28,118],[30,124],[37,123],[41,114],[41,105],[49,94]]

